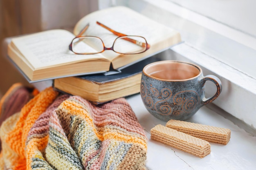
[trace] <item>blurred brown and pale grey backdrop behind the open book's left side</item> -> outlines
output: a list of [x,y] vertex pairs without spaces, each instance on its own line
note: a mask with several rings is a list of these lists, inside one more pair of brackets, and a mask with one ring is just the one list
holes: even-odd
[[49,29],[72,32],[80,18],[97,9],[97,0],[0,0],[0,97],[15,82],[28,84],[6,58],[6,38]]

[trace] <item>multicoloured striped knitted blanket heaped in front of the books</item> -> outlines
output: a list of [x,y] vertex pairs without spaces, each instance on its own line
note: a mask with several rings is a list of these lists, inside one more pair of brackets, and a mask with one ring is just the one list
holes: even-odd
[[0,137],[2,169],[146,169],[146,135],[124,98],[93,105],[47,88],[2,123]]

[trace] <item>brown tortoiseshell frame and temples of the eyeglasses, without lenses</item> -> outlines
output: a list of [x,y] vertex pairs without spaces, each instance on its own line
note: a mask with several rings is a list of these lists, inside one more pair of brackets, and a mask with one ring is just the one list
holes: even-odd
[[[136,37],[141,37],[141,38],[143,38],[143,39],[145,40],[145,43],[144,43],[144,42],[142,42],[142,43],[141,43],[141,42],[137,42],[137,40],[133,40],[133,39],[131,39],[131,38],[124,38],[124,40],[127,40],[127,41],[129,41],[129,42],[132,42],[133,44],[137,44],[137,45],[140,45],[140,46],[146,46],[146,49],[145,49],[144,51],[139,52],[139,53],[144,53],[145,51],[147,51],[147,50],[150,48],[150,44],[148,44],[146,38],[144,38],[144,37],[142,37],[142,36],[138,36],[138,35],[126,35],[126,34],[119,33],[119,32],[117,32],[117,31],[114,31],[114,30],[110,29],[108,26],[106,26],[106,25],[104,25],[104,24],[101,24],[101,23],[98,22],[98,21],[96,21],[96,23],[97,23],[98,25],[102,26],[103,28],[107,29],[108,31],[112,32],[113,34],[117,35],[118,37],[115,39],[115,41],[116,41],[118,38],[120,38],[120,37],[125,37],[125,36],[136,36]],[[99,38],[99,37],[97,37],[97,36],[81,36],[81,35],[83,35],[83,33],[85,33],[85,31],[88,29],[88,27],[89,27],[89,23],[85,25],[85,27],[81,30],[81,32],[80,32],[75,38],[73,38],[73,40],[75,40],[76,38],[83,38],[83,37]],[[99,39],[101,40],[101,38],[99,38]],[[103,44],[103,50],[102,50],[102,51],[97,52],[97,53],[76,53],[76,52],[74,52],[73,49],[72,49],[73,40],[71,41],[71,43],[70,43],[70,45],[69,45],[69,50],[72,51],[72,52],[75,53],[75,54],[85,54],[85,55],[88,54],[88,55],[89,55],[89,54],[98,54],[98,53],[102,53],[103,51],[106,51],[106,50],[115,51],[115,50],[114,50],[115,41],[113,42],[112,47],[107,48],[107,47],[105,46],[105,44],[103,43],[103,40],[101,40],[101,42],[102,42],[102,44]],[[117,51],[115,51],[115,52],[116,52],[116,53],[119,53],[119,54],[127,54],[127,53],[120,53],[120,52],[117,52]],[[129,54],[139,54],[139,53],[129,53]]]

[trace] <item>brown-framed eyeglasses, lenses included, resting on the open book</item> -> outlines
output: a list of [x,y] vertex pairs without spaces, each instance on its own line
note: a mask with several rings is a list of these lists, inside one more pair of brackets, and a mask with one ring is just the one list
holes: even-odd
[[96,23],[118,36],[112,47],[105,47],[103,41],[99,37],[81,36],[88,29],[89,24],[87,24],[70,43],[70,51],[73,51],[75,54],[97,54],[102,53],[105,50],[112,50],[120,54],[138,54],[143,53],[150,48],[150,45],[144,37],[137,35],[125,35],[110,29],[98,21]]

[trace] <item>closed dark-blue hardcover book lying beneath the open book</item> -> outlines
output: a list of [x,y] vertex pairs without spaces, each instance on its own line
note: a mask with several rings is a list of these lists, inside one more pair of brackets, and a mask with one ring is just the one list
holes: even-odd
[[126,67],[119,74],[92,74],[54,79],[53,87],[58,91],[79,95],[96,104],[133,95],[140,91],[144,66],[165,60],[162,53]]

